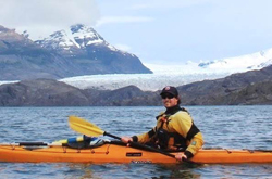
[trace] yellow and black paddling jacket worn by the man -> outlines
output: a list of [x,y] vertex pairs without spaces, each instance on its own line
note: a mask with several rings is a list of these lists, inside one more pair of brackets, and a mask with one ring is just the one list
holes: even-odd
[[[180,108],[180,106],[178,106]],[[140,143],[150,142],[158,135],[159,129],[164,129],[171,133],[168,141],[168,149],[176,149],[178,145],[186,148],[185,154],[189,157],[194,156],[203,145],[203,138],[187,111],[178,110],[174,114],[166,115],[162,113],[158,116],[156,127],[143,135],[133,137],[134,141]],[[178,136],[173,137],[173,136]],[[180,144],[178,141],[180,140]]]

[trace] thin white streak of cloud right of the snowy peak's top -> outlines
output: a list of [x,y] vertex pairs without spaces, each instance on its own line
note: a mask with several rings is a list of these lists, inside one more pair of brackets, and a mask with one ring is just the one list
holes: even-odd
[[146,23],[153,21],[152,17],[147,16],[104,16],[98,20],[96,26],[102,26],[111,23]]

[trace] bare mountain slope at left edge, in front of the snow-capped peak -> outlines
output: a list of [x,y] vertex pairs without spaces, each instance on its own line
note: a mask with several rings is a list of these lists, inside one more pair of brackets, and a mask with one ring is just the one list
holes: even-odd
[[0,80],[61,78],[73,66],[15,30],[0,26]]

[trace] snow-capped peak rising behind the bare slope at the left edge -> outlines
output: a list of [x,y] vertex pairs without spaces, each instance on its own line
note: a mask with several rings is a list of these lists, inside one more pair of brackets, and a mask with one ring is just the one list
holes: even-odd
[[83,75],[151,73],[136,55],[115,49],[94,28],[82,24],[36,43],[73,62]]

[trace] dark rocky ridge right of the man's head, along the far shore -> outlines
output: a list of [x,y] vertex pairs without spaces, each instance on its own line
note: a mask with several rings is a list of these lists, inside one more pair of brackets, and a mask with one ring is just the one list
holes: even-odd
[[268,102],[259,97],[261,93],[251,91],[251,94],[257,98],[257,101],[254,102],[247,99],[246,95],[249,94],[243,91],[252,88],[262,91],[261,86],[265,84],[268,89],[263,91],[263,94],[269,99],[270,93],[272,93],[272,89],[269,88],[271,81],[272,65],[260,71],[233,74],[217,80],[193,82],[178,87],[178,90],[182,91],[183,101],[188,105],[265,104]]

